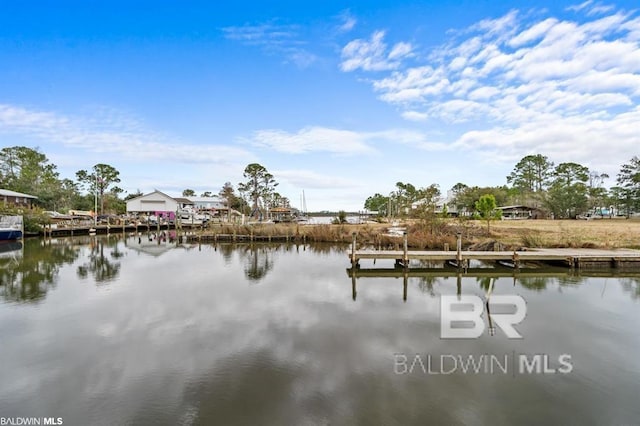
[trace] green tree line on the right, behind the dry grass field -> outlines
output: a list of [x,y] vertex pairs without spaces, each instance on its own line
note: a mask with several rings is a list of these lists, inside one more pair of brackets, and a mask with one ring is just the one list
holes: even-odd
[[[616,185],[607,188],[606,173],[565,162],[554,164],[541,154],[523,157],[506,176],[506,185],[470,186],[459,182],[450,189],[450,206],[463,215],[481,214],[478,202],[491,195],[496,205],[526,205],[555,218],[576,218],[582,214],[626,215],[640,211],[640,159],[634,156],[620,167]],[[376,193],[364,203],[381,216],[420,216],[435,211],[441,193],[437,184],[418,188],[397,182],[389,195]],[[486,205],[484,201],[482,205]],[[446,214],[447,206],[444,206]]]

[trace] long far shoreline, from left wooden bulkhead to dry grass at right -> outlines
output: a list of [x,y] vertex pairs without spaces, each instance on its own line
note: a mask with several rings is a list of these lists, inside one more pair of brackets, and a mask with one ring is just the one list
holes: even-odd
[[[358,244],[376,248],[395,248],[402,244],[402,232],[407,232],[411,249],[442,250],[455,247],[456,234],[462,234],[466,250],[517,250],[523,248],[640,248],[640,220],[502,220],[487,225],[484,221],[438,219],[420,222],[413,219],[390,223],[366,224],[211,224],[205,229],[175,230],[164,226],[98,226],[98,234],[141,233],[175,230],[191,240],[213,241],[291,241],[314,243],[351,243],[356,233]],[[393,228],[395,234],[389,233]],[[87,235],[87,229],[59,230],[59,235]],[[40,233],[39,236],[49,238]]]

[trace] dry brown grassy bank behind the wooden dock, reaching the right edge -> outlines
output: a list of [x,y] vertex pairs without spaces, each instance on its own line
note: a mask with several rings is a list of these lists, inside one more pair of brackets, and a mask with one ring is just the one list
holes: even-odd
[[[442,250],[445,244],[455,249],[457,232],[462,233],[464,248],[472,250],[493,250],[496,243],[505,250],[523,247],[640,248],[638,220],[503,220],[492,222],[490,232],[487,232],[486,222],[455,219],[434,223],[408,221],[400,225],[407,229],[409,247],[418,250]],[[384,223],[215,225],[204,233],[288,235],[306,242],[350,243],[355,232],[359,247],[397,248],[402,245],[402,238],[389,235],[389,227]]]

